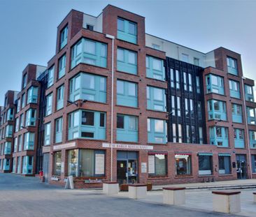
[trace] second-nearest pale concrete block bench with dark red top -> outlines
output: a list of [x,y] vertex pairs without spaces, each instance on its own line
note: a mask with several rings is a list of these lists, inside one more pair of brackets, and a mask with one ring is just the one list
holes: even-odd
[[170,205],[185,204],[185,188],[163,188],[163,202]]

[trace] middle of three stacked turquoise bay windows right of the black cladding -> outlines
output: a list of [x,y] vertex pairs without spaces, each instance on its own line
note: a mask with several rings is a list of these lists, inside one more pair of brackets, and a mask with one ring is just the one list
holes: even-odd
[[226,103],[219,100],[208,100],[208,119],[227,121]]

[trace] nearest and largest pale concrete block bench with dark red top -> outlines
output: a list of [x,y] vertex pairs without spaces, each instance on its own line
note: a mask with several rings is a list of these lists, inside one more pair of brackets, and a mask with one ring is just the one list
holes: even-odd
[[212,191],[213,211],[227,214],[239,213],[241,211],[240,193],[236,190]]

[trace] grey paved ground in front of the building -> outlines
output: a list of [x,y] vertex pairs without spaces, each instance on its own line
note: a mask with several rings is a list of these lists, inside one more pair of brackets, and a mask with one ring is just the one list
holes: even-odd
[[253,189],[242,190],[239,215],[212,211],[210,190],[187,190],[186,204],[162,204],[162,191],[151,191],[145,199],[130,200],[128,193],[107,196],[102,190],[65,190],[39,183],[35,177],[0,174],[0,217],[52,216],[256,216]]

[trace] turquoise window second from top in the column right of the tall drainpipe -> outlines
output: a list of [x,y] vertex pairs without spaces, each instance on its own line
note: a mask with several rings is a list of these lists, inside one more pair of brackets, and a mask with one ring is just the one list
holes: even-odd
[[118,47],[117,69],[121,72],[137,74],[137,53]]

